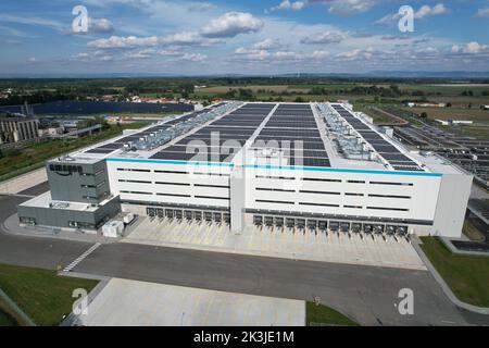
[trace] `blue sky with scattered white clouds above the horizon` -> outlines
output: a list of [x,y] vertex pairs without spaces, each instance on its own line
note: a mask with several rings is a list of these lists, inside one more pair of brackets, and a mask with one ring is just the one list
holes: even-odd
[[489,0],[2,0],[0,45],[0,74],[489,71]]

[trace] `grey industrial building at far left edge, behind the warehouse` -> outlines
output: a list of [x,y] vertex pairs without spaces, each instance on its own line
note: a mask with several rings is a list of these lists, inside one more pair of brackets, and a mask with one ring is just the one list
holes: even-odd
[[0,115],[0,144],[32,140],[38,137],[38,119],[23,115]]

